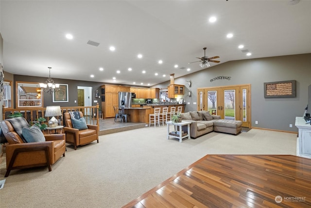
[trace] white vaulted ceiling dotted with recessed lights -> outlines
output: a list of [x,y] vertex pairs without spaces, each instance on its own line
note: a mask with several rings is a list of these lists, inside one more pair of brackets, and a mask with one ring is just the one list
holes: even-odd
[[210,67],[311,53],[310,0],[1,0],[0,12],[4,71],[18,75],[148,86],[202,70],[189,62],[204,47]]

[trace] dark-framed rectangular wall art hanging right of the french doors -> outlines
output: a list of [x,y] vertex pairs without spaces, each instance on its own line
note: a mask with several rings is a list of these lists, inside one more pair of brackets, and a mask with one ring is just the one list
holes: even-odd
[[295,97],[296,80],[265,82],[264,97]]

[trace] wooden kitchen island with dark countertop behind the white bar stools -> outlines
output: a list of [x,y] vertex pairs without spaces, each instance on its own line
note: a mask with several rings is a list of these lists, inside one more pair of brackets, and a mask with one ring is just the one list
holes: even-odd
[[130,122],[134,123],[149,123],[149,114],[155,112],[155,108],[162,108],[169,107],[169,112],[171,110],[171,107],[177,107],[183,106],[182,112],[185,111],[186,104],[143,104],[140,107],[131,107],[131,108],[125,108],[125,113],[129,114],[128,120]]

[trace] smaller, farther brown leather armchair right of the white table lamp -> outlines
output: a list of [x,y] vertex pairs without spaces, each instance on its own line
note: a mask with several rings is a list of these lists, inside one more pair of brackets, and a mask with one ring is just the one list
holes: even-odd
[[[79,111],[80,117],[83,117],[83,113]],[[98,140],[98,126],[87,124],[88,129],[78,130],[74,129],[71,117],[68,112],[64,113],[64,132],[66,133],[66,143],[72,144],[74,150],[77,150],[77,146],[86,145],[92,141]]]

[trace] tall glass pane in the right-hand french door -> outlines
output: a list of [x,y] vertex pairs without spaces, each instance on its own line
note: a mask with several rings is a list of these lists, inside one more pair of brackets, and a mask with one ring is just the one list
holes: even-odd
[[224,91],[225,119],[235,120],[235,90]]

